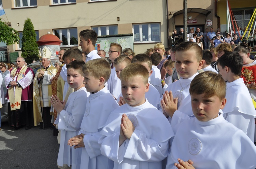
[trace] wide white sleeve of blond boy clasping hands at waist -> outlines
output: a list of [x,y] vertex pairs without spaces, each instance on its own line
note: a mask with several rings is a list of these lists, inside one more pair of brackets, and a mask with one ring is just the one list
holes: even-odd
[[101,129],[99,129],[98,132],[95,132],[91,135],[84,135],[84,147],[86,149],[86,152],[90,156],[90,158],[97,157],[101,154],[100,152],[100,146],[101,144],[98,143],[98,140],[101,136],[100,134]]

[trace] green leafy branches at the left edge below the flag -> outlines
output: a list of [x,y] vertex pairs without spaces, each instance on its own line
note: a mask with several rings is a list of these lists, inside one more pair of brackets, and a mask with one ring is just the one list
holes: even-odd
[[19,42],[19,33],[6,25],[0,18],[0,42],[5,42],[6,45],[12,45]]

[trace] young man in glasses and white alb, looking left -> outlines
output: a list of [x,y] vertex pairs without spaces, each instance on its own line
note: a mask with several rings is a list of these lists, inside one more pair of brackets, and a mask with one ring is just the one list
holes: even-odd
[[121,93],[121,81],[116,76],[114,69],[114,60],[122,54],[122,46],[118,43],[111,43],[108,51],[109,59],[112,61],[111,64],[111,74],[108,80],[108,90],[117,99]]

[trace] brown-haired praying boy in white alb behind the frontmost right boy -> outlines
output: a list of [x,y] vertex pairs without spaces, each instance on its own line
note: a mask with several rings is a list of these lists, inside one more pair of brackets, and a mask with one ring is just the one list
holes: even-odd
[[[196,75],[197,70],[201,70],[203,65],[202,49],[195,42],[183,42],[175,46],[175,68],[180,76],[180,80],[168,86],[160,101],[159,110],[171,121],[180,121],[188,116],[193,116],[191,112],[191,97],[189,85]],[[168,93],[168,91],[170,91]],[[178,111],[176,111],[178,110]],[[182,113],[181,113],[182,112]],[[185,114],[183,114],[185,113]],[[171,123],[171,126],[174,126]]]

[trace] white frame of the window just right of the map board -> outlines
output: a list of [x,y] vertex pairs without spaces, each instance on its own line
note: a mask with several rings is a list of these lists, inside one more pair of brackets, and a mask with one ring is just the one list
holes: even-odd
[[[142,35],[142,25],[148,24],[148,40],[143,41],[143,35]],[[159,24],[159,40],[151,40],[151,24]],[[134,25],[139,25],[140,27],[140,41],[134,41]],[[161,24],[160,23],[134,23],[132,24],[132,34],[133,34],[133,43],[156,43],[156,42],[161,42]]]

